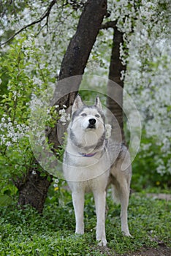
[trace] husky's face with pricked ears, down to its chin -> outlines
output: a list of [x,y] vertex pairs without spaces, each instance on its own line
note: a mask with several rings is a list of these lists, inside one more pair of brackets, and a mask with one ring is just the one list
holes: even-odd
[[96,97],[94,105],[87,106],[82,102],[78,94],[72,106],[72,123],[77,125],[77,129],[102,130],[104,132],[104,113],[99,97]]

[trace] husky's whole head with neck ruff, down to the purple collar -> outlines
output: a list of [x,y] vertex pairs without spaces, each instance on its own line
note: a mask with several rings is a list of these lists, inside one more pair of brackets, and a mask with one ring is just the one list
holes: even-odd
[[108,130],[99,97],[96,97],[94,105],[88,106],[82,102],[80,95],[77,95],[68,127],[69,145],[76,146],[77,151],[86,154],[102,151]]

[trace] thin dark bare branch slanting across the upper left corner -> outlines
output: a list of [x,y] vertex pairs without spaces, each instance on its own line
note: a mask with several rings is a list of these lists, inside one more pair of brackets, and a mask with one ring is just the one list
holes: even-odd
[[[9,42],[9,41],[11,41],[12,39],[14,39],[14,37],[16,37],[18,34],[20,34],[20,32],[22,32],[22,31],[25,30],[25,29],[28,29],[30,26],[34,26],[35,24],[41,22],[41,21],[44,20],[46,17],[47,17],[47,20],[48,20],[49,15],[50,15],[50,11],[51,11],[53,5],[56,4],[56,1],[57,1],[57,0],[51,1],[49,7],[47,7],[47,10],[45,10],[44,14],[43,14],[38,20],[34,20],[33,22],[29,23],[28,25],[23,26],[23,28],[20,29],[20,30],[18,30],[17,32],[15,32],[15,34],[13,34],[12,37],[9,37],[9,39],[7,39],[7,41],[2,42],[2,43],[0,44],[0,46],[6,45],[7,42]],[[47,23],[47,22],[46,22],[46,23]]]

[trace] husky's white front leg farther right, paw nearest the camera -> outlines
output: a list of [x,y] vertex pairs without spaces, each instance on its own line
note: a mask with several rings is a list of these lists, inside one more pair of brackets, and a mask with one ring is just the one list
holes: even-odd
[[99,246],[106,246],[105,233],[105,208],[106,208],[106,192],[94,191],[94,200],[96,204],[96,240]]

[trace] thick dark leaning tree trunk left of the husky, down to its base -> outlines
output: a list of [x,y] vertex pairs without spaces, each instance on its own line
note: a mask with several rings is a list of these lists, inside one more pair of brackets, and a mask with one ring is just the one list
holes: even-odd
[[[68,108],[73,104],[75,96],[80,86],[81,77],[74,80],[65,80],[74,75],[83,75],[88,56],[91,53],[99,28],[102,24],[104,15],[107,14],[107,0],[88,0],[77,25],[77,31],[72,37],[69,46],[61,63],[61,71],[59,73],[59,81],[53,97],[53,105],[66,105]],[[72,81],[72,83],[70,83]],[[48,129],[47,137],[54,148],[60,145],[57,136],[57,125],[53,129]],[[41,177],[37,171],[37,162],[26,177],[25,181],[18,182],[16,185],[19,191],[20,205],[31,204],[42,212],[45,198],[47,197],[47,189],[51,180],[47,180],[47,176]]]

